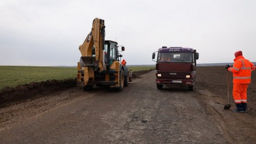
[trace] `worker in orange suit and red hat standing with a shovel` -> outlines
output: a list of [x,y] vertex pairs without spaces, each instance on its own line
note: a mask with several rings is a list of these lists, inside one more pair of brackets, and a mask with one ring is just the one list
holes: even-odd
[[255,65],[243,57],[242,51],[234,53],[234,65],[226,65],[228,71],[233,73],[233,99],[236,103],[236,110],[232,112],[243,113],[247,109],[247,88],[251,83],[251,71]]

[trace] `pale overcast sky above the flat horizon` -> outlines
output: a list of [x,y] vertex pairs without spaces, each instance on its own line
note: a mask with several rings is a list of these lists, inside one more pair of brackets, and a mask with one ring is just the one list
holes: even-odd
[[198,63],[256,62],[256,1],[12,1],[0,3],[0,65],[76,66],[92,20],[125,46],[128,65],[155,64],[162,46],[191,47]]

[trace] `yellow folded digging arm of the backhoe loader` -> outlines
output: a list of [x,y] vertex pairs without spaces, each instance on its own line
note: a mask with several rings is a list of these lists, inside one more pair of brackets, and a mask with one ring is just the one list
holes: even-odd
[[[78,67],[83,69],[83,84],[93,85],[94,69],[102,71],[106,69],[104,63],[105,25],[104,20],[95,18],[92,22],[92,30],[86,40],[79,46],[81,52]],[[93,49],[94,48],[94,49]],[[95,53],[95,57],[93,54]]]

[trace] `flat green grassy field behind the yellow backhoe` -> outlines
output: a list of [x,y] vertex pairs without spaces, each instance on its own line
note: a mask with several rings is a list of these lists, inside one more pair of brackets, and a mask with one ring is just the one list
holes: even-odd
[[[133,71],[147,70],[152,66],[129,67]],[[41,67],[41,66],[0,66],[0,90],[16,87],[29,82],[62,80],[76,78],[77,67]]]

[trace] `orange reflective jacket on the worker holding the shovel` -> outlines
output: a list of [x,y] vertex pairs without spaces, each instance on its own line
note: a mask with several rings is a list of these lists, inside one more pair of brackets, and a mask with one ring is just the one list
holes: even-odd
[[233,83],[251,83],[251,71],[255,65],[243,56],[234,58],[233,67],[228,68],[233,73]]

